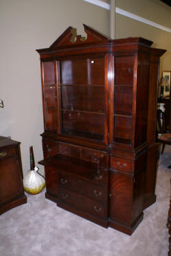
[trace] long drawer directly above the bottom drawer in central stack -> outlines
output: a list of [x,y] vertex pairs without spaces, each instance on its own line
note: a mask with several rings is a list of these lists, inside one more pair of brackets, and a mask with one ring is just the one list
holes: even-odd
[[83,181],[62,173],[59,174],[59,183],[60,187],[72,189],[73,191],[81,193],[94,200],[98,200],[100,202],[107,201],[107,189],[90,183],[90,181]]

